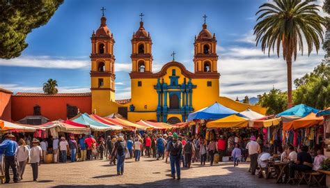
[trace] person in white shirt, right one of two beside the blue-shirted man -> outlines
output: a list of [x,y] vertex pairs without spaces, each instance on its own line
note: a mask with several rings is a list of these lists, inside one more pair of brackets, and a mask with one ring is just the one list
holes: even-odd
[[40,164],[40,159],[42,159],[42,149],[39,146],[39,141],[37,139],[33,139],[32,145],[33,147],[30,150],[30,163],[32,167],[33,181],[36,181],[38,179],[38,166]]

